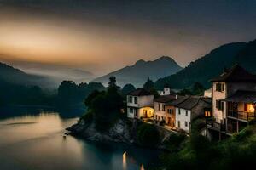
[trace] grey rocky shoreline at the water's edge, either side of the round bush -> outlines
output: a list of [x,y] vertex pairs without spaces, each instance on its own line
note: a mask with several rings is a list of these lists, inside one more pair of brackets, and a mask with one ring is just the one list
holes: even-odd
[[[67,127],[70,135],[77,136],[92,142],[102,142],[102,143],[124,143],[124,144],[134,144],[137,145],[137,127],[142,124],[138,120],[122,120],[119,119],[113,127],[108,131],[101,133],[95,128],[95,123],[84,122],[84,120],[79,120],[77,124],[72,127]],[[156,149],[166,150],[164,142],[172,134],[165,129],[158,127],[160,132],[160,144]]]

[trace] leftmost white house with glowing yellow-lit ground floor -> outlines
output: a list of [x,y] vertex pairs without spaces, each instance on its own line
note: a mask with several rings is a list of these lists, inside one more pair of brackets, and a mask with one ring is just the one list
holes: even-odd
[[127,116],[129,118],[153,118],[154,94],[144,88],[137,88],[127,95]]

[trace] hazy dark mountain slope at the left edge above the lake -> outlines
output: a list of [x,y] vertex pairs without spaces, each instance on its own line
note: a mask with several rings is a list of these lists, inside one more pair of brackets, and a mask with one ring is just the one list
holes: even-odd
[[38,85],[43,88],[52,86],[52,81],[48,77],[27,74],[10,65],[0,62],[0,83],[11,83],[15,85]]

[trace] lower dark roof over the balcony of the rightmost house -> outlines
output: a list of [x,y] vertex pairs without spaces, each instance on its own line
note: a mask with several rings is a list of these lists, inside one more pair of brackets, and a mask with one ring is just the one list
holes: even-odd
[[235,94],[232,94],[230,97],[223,99],[223,101],[255,103],[256,91],[238,90]]

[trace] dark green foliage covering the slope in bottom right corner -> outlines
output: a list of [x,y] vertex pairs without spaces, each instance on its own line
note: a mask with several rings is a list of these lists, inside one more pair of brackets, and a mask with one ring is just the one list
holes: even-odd
[[247,127],[218,143],[210,142],[198,133],[180,144],[176,140],[170,141],[168,144],[173,144],[177,150],[161,156],[161,168],[239,169],[253,166],[256,156],[255,129],[255,125]]

